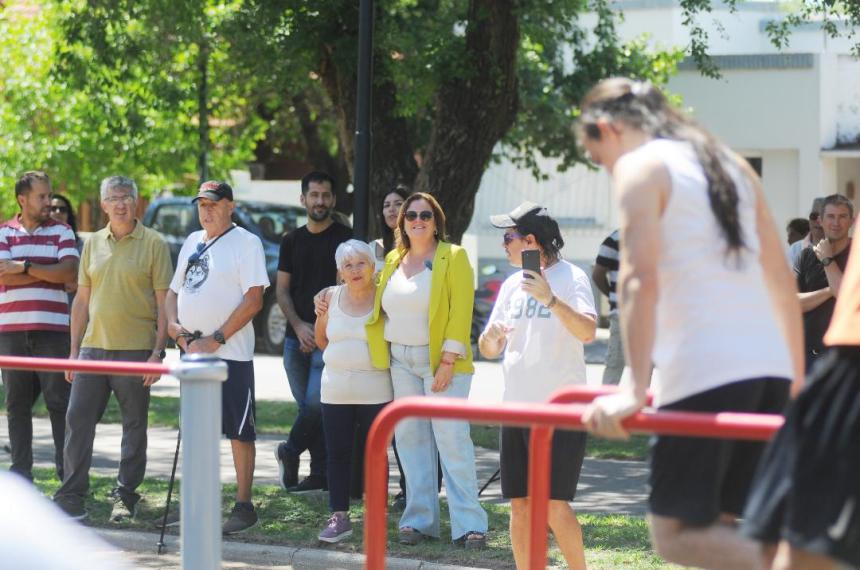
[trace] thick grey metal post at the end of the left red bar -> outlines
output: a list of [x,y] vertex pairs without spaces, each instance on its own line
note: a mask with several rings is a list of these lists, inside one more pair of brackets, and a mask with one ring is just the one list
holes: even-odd
[[181,390],[182,570],[221,568],[221,383],[227,364],[186,354],[172,370]]

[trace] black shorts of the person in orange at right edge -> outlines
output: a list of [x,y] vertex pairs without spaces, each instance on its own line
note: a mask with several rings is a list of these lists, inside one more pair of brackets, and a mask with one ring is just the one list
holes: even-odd
[[827,351],[767,448],[742,531],[860,566],[860,347]]

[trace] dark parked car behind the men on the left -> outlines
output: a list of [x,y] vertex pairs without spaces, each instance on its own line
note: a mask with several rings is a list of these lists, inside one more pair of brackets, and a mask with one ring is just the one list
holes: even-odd
[[[275,299],[278,254],[284,234],[306,221],[307,212],[304,208],[236,200],[233,222],[255,234],[263,242],[266,269],[272,283],[266,289],[263,310],[254,318],[259,352],[280,354],[283,351],[287,320]],[[192,232],[201,229],[197,208],[191,203],[190,197],[159,198],[153,201],[146,209],[143,224],[164,236],[170,246],[174,267],[185,239]]]

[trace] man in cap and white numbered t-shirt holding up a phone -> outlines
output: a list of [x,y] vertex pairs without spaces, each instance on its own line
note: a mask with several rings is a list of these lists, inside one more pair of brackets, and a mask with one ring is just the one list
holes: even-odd
[[[479,339],[481,354],[504,352],[504,401],[544,402],[562,386],[585,384],[583,344],[594,339],[597,311],[584,271],[561,258],[564,241],[546,208],[532,202],[491,216],[504,228],[510,263],[540,252],[541,272],[523,270],[505,280]],[[528,441],[526,428],[502,427],[502,494],[511,500],[511,544],[518,568],[528,562]],[[549,526],[570,568],[585,568],[582,529],[570,506],[585,456],[585,433],[555,432],[552,442]]]

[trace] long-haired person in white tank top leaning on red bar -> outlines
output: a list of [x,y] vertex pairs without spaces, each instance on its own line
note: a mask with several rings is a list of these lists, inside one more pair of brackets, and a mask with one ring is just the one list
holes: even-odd
[[[620,204],[619,308],[633,381],[587,410],[589,430],[626,437],[652,362],[661,408],[781,412],[803,374],[800,306],[760,182],[739,156],[649,83],[602,81],[579,138]],[[682,565],[756,568],[727,524],[743,510],[761,445],[659,436],[652,448],[656,550]]]

